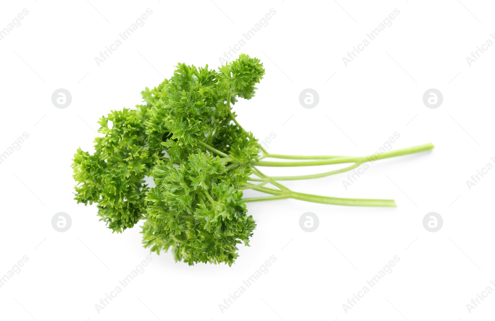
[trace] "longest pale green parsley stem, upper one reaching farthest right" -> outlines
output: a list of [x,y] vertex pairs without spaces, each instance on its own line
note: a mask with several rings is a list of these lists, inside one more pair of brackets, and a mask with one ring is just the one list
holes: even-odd
[[337,157],[332,159],[318,160],[318,161],[253,161],[252,165],[257,166],[315,166],[315,165],[329,165],[329,164],[342,164],[348,162],[366,162],[366,161],[377,161],[386,158],[403,156],[408,154],[414,154],[419,152],[428,151],[435,148],[432,143],[412,146],[408,148],[399,149],[396,151],[389,151],[382,154],[373,154],[363,157]]

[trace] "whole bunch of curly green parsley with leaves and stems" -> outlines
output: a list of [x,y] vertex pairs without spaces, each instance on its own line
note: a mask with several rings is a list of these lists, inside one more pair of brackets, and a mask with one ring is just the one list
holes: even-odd
[[[247,201],[293,198],[334,205],[396,206],[393,200],[343,199],[289,190],[283,180],[325,177],[366,161],[434,148],[425,144],[381,155],[292,156],[267,153],[236,120],[232,106],[250,99],[264,75],[263,64],[241,54],[218,71],[179,64],[174,75],[141,92],[144,105],[112,111],[99,120],[95,153],[81,149],[72,167],[78,203],[97,203],[100,220],[113,232],[146,219],[143,244],[159,254],[171,248],[176,261],[231,265],[237,244],[249,245],[256,227]],[[291,161],[266,161],[265,158]],[[270,177],[261,166],[352,163],[312,175]],[[151,176],[156,187],[148,188]],[[276,188],[265,187],[267,183]],[[265,197],[243,198],[253,189]]]

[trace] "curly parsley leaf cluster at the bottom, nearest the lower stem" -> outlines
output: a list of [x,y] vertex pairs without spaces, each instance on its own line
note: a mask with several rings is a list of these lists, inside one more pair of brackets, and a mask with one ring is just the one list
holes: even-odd
[[189,264],[232,264],[237,243],[248,245],[256,224],[226,172],[224,161],[203,152],[179,167],[159,161],[146,198],[145,245],[157,252],[171,246],[176,260]]

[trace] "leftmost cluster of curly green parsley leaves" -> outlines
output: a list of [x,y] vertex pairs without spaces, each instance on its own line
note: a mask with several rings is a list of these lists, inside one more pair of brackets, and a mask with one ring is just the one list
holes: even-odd
[[[98,203],[98,215],[115,232],[133,227],[144,217],[148,188],[144,178],[161,151],[146,146],[146,106],[113,111],[99,121],[104,137],[95,139],[95,154],[77,150],[74,179],[79,203]],[[108,127],[111,121],[112,128]]]

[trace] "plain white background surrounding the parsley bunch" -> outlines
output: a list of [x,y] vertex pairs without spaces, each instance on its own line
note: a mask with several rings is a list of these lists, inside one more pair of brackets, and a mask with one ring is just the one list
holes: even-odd
[[[29,138],[0,164],[0,276],[29,261],[0,288],[1,320],[488,320],[495,293],[466,304],[495,280],[495,47],[471,66],[466,57],[492,39],[490,1],[4,1],[0,29],[29,14],[0,41],[0,153]],[[35,3],[33,3],[35,2]],[[465,6],[466,7],[465,7]],[[100,66],[95,57],[145,12],[152,15]],[[140,228],[113,234],[97,208],[73,200],[71,159],[93,152],[98,119],[141,103],[140,91],[170,78],[178,62],[217,68],[273,8],[268,25],[242,47],[263,62],[256,97],[236,104],[238,120],[268,151],[368,155],[393,135],[394,149],[432,142],[419,155],[376,162],[347,190],[346,174],[287,182],[326,196],[395,199],[397,208],[344,207],[296,200],[249,203],[257,221],[235,265],[188,266],[170,253],[152,262],[99,313],[95,304],[145,257]],[[400,14],[359,56],[342,58],[393,10]],[[493,40],[493,39],[492,39]],[[495,40],[494,40],[495,41]],[[238,52],[240,53],[240,52]],[[330,79],[330,80],[329,80]],[[66,109],[51,95],[72,94]],[[313,88],[319,104],[301,107]],[[427,108],[429,88],[443,104]],[[285,174],[320,168],[286,169]],[[275,171],[267,170],[267,173]],[[246,193],[253,196],[254,193]],[[318,215],[312,233],[304,212]],[[444,219],[428,232],[428,212]],[[72,226],[55,231],[66,212]],[[219,304],[271,255],[276,261],[223,313]],[[352,309],[343,304],[395,255],[393,272]]]

